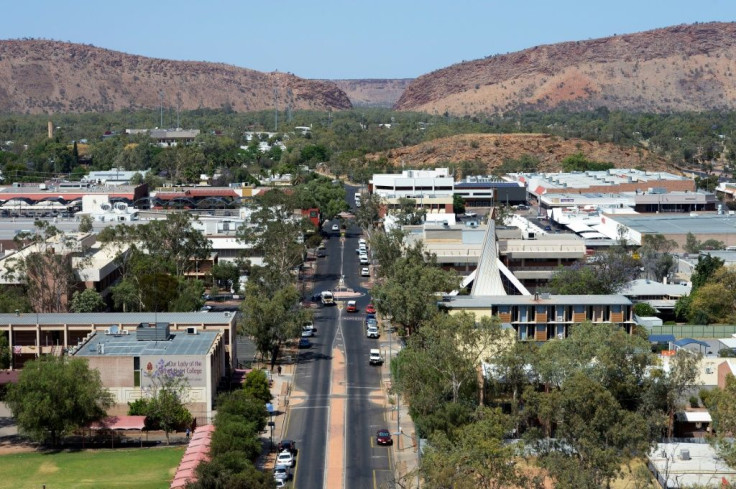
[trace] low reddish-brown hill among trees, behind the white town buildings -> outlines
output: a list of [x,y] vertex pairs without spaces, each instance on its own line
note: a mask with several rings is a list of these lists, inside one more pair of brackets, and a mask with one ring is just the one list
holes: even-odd
[[479,161],[485,164],[488,173],[492,173],[505,159],[518,159],[528,154],[539,160],[539,171],[552,172],[561,171],[562,160],[575,153],[583,153],[592,161],[613,163],[616,168],[672,171],[664,159],[644,149],[548,134],[463,134],[372,154],[368,158],[385,156],[397,168],[442,167],[462,161]]

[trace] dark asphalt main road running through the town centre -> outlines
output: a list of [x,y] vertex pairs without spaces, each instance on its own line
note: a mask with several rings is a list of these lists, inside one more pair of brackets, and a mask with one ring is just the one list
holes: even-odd
[[[348,188],[351,203],[354,191]],[[329,230],[331,225],[332,222],[327,223],[325,229]],[[312,338],[312,347],[302,350],[299,355],[295,388],[289,401],[285,437],[295,440],[299,450],[293,484],[297,489],[327,487],[330,401],[346,397],[342,433],[344,487],[393,487],[391,450],[375,443],[376,431],[388,428],[388,422],[383,405],[385,395],[380,384],[381,369],[368,364],[368,351],[378,348],[379,340],[366,338],[363,326],[370,295],[364,287],[368,278],[360,276],[361,266],[355,252],[360,230],[356,226],[350,227],[344,239],[337,232],[328,233],[327,256],[318,258],[313,293],[334,289],[343,277],[345,285],[361,296],[357,298],[357,313],[347,313],[341,306],[315,310],[317,334]],[[346,394],[331,394],[333,348],[339,349],[345,358]]]

